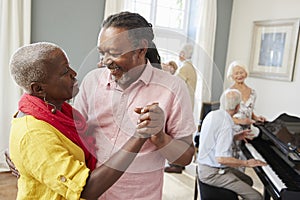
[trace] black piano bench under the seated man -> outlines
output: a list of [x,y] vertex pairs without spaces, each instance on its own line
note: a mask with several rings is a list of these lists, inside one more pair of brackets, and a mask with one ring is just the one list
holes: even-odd
[[238,200],[238,195],[228,189],[202,183],[198,179],[201,200]]

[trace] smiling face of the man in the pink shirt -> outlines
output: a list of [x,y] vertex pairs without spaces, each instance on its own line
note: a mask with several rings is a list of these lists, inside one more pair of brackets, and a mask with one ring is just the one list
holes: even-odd
[[103,28],[98,37],[100,62],[106,66],[118,80],[123,73],[139,66],[139,54],[128,37],[128,31],[123,28]]

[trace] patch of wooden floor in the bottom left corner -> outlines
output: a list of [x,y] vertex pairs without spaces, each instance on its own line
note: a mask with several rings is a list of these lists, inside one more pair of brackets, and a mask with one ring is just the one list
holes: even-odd
[[17,198],[17,178],[10,172],[0,172],[0,199],[15,200]]

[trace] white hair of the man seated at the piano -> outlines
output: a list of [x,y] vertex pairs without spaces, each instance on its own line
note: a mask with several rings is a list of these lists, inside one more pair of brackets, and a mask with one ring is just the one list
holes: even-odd
[[227,89],[220,98],[220,107],[223,110],[234,110],[242,100],[241,92],[237,89]]

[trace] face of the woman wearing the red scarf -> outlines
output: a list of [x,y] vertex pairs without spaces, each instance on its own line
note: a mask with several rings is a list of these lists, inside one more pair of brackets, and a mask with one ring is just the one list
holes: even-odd
[[48,78],[43,83],[46,100],[60,105],[71,99],[78,92],[78,82],[75,78],[76,72],[70,67],[65,54],[57,49],[53,52],[52,59],[47,67]]

